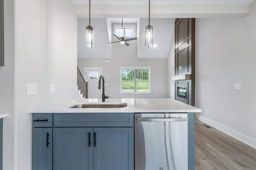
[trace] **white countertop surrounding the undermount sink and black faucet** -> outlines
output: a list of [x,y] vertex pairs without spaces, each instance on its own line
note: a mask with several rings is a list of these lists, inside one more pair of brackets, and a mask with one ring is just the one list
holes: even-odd
[[33,109],[30,113],[195,113],[201,109],[174,99],[106,99],[106,103],[127,103],[124,108],[68,108],[75,104],[101,102],[101,99],[70,99],[60,104]]

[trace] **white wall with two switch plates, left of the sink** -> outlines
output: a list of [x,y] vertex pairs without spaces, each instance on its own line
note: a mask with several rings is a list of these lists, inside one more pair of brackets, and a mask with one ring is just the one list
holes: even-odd
[[[70,0],[15,0],[14,9],[14,170],[30,170],[32,115],[28,111],[76,98],[77,18]],[[37,95],[26,95],[27,83],[38,84]],[[56,85],[55,94],[50,94],[50,83]]]

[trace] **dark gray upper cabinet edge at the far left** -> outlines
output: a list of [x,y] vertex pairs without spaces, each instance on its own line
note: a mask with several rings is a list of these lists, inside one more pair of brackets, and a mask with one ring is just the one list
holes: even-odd
[[0,66],[4,66],[4,0],[0,2]]

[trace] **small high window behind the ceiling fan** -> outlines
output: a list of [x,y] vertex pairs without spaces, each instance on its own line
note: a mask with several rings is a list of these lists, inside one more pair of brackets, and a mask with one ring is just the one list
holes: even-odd
[[133,38],[136,37],[136,25],[114,25],[114,34],[118,37]]

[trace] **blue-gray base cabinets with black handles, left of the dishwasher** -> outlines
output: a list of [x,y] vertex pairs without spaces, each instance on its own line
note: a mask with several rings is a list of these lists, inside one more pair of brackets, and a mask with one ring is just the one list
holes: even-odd
[[32,170],[134,170],[134,113],[33,113],[32,139]]

